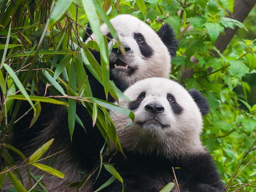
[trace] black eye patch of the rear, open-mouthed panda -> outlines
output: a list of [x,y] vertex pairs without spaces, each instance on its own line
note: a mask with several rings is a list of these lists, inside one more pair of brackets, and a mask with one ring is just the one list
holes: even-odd
[[134,33],[134,39],[137,41],[139,50],[144,57],[148,58],[153,54],[153,49],[147,44],[145,37],[141,33]]

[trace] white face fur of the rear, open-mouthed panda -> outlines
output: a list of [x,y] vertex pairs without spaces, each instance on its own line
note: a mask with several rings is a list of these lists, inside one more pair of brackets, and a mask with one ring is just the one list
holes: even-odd
[[[110,22],[115,28],[122,44],[131,48],[131,52],[126,55],[117,55],[111,52],[109,55],[110,62],[121,59],[128,66],[138,67],[131,76],[128,76],[125,72],[120,72],[120,70],[112,68],[111,72],[115,78],[126,81],[129,86],[134,84],[136,81],[145,78],[169,78],[171,71],[171,55],[160,37],[154,30],[152,30],[152,28],[150,28],[150,26],[138,18],[126,14],[118,15],[112,18]],[[108,26],[103,24],[101,26],[101,31],[104,35],[107,35],[109,32]],[[144,35],[147,44],[153,49],[154,52],[151,57],[143,58],[143,55],[139,50],[139,46],[134,39],[135,32]],[[91,38],[96,40],[95,34],[92,34]],[[90,41],[91,38],[88,38],[85,43]],[[109,47],[110,45],[111,41],[109,42]]]

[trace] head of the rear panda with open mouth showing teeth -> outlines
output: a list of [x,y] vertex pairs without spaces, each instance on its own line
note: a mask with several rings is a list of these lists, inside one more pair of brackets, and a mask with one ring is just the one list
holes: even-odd
[[[149,77],[169,78],[171,57],[176,55],[177,41],[173,29],[168,24],[164,24],[155,32],[145,22],[132,15],[118,15],[110,22],[126,52],[122,55],[118,48],[113,48],[109,55],[110,74],[114,80],[130,86]],[[101,31],[112,39],[106,24],[101,26]],[[87,32],[92,33],[91,30]],[[89,35],[85,35],[85,43],[91,38],[96,40],[95,34],[91,34],[91,38]]]

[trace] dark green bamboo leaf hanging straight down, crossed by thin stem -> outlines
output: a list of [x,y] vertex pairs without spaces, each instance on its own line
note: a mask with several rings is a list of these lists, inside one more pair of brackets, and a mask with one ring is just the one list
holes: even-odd
[[[73,60],[69,67],[69,87],[76,92],[76,68],[75,61]],[[70,90],[68,90],[70,94]],[[75,127],[75,119],[76,119],[76,100],[68,99],[69,107],[68,107],[68,122],[69,122],[69,133],[70,138],[72,140],[72,135]]]

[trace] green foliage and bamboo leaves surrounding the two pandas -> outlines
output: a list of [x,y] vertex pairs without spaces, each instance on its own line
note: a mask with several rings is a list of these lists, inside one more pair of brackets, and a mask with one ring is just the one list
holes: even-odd
[[[93,124],[105,131],[103,137],[109,137],[121,150],[105,108],[120,111],[132,120],[134,115],[126,109],[93,98],[84,67],[104,85],[102,91],[106,95],[109,92],[116,99],[124,97],[109,81],[109,50],[106,37],[99,28],[102,22],[107,22],[111,28],[109,19],[126,13],[145,20],[154,30],[158,30],[164,22],[173,26],[179,47],[177,56],[172,59],[170,78],[186,89],[200,90],[208,98],[211,111],[204,118],[201,138],[213,154],[225,190],[254,191],[256,7],[250,11],[244,25],[228,18],[233,7],[232,0],[0,0],[0,186],[7,176],[14,185],[13,191],[35,191],[36,185],[46,191],[47,187],[40,182],[41,176],[35,177],[30,173],[29,165],[58,177],[64,176],[38,163],[53,140],[29,159],[8,144],[13,125],[20,118],[26,118],[26,111],[24,115],[17,116],[22,100],[27,100],[34,111],[31,125],[40,115],[42,102],[66,106],[71,138],[75,121],[82,124],[75,113],[76,102],[82,102],[93,117]],[[99,40],[98,44],[91,41],[85,45],[81,41],[88,20]],[[236,26],[240,29],[221,53],[215,41],[225,28]],[[111,33],[119,43],[113,29]],[[102,66],[87,48],[100,50]],[[40,79],[54,97],[35,96]],[[107,128],[111,130],[109,134],[106,134]],[[15,165],[11,151],[24,159],[35,186],[22,185],[19,166]],[[104,164],[106,166],[110,165]],[[111,173],[120,179],[115,171]],[[165,190],[168,191],[167,188]]]

